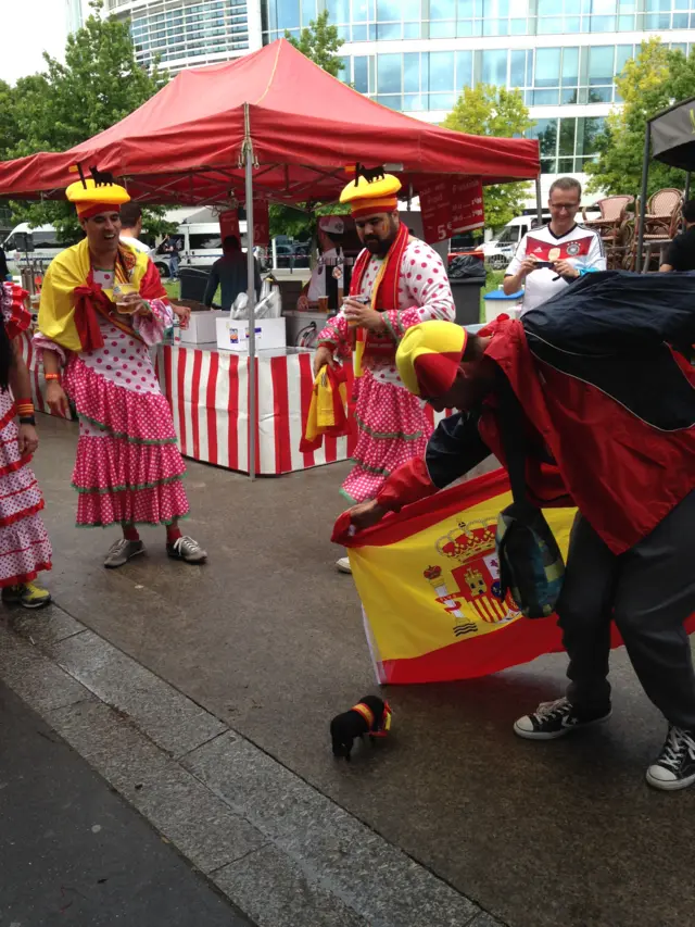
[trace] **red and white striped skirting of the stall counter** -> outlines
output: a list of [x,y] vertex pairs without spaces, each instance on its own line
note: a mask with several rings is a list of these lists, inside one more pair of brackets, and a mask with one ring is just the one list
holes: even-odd
[[[28,337],[23,346],[34,403],[49,413],[43,372]],[[311,351],[298,348],[260,351],[256,356],[258,476],[308,469],[352,454],[354,438],[326,438],[312,453],[299,449],[314,386],[312,360]],[[160,385],[185,456],[249,473],[249,363],[245,354],[219,351],[213,345],[160,348]]]

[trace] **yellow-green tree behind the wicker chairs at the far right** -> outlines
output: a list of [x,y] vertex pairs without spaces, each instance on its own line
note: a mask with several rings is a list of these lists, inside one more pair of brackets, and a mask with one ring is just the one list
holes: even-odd
[[[647,120],[679,100],[693,96],[695,53],[670,50],[660,39],[642,42],[640,53],[615,78],[623,105],[606,117],[598,136],[598,158],[586,165],[589,189],[606,193],[637,195],[642,185],[642,160]],[[685,174],[652,161],[648,192],[662,187],[681,188]]]

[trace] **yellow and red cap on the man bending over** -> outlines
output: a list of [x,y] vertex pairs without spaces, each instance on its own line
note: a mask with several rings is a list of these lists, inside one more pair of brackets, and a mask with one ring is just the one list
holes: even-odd
[[408,328],[395,353],[405,388],[426,399],[448,392],[467,340],[466,329],[453,322],[420,322]]

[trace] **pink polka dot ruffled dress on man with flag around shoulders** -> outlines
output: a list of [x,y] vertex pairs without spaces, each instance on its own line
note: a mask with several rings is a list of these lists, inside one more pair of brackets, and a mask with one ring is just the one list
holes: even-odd
[[[113,286],[104,272],[93,276]],[[170,524],[188,513],[186,466],[149,353],[170,310],[161,300],[150,305],[152,320],[135,320],[140,337],[100,316],[103,348],[65,358],[63,385],[79,416],[78,526]],[[35,341],[43,350],[58,347],[43,336]]]

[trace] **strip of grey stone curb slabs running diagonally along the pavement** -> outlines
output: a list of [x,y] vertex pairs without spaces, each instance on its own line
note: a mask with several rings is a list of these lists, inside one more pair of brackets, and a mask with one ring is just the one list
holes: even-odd
[[0,679],[258,927],[504,927],[54,604]]

